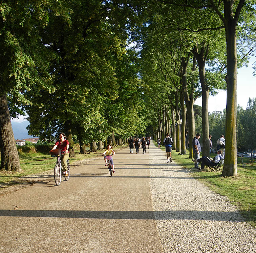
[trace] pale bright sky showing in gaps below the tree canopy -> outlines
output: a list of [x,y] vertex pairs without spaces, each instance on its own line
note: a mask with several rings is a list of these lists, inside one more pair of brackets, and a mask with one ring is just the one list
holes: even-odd
[[[248,67],[241,67],[237,70],[237,105],[245,110],[249,97],[256,97],[256,77],[253,76],[253,59],[250,60]],[[226,108],[227,91],[219,90],[216,96],[209,96],[208,111],[223,111]],[[199,97],[195,105],[202,106],[202,97]],[[25,119],[13,119],[13,122],[22,122]]]

